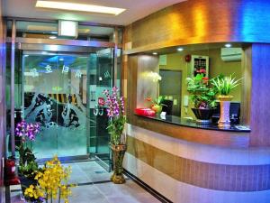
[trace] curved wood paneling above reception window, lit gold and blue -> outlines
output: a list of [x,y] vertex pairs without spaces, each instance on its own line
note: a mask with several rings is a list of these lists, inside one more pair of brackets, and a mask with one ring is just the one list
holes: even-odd
[[209,42],[270,42],[265,0],[189,0],[126,27],[126,53]]

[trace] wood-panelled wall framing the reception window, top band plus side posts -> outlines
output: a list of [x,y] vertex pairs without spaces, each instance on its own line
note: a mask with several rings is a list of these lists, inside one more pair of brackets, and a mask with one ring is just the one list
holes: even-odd
[[[269,10],[270,4],[264,0],[189,0],[126,26],[124,53],[128,54],[125,66],[129,73],[126,76],[130,114],[136,107],[139,82],[134,71],[138,69],[138,55],[144,51],[196,43],[255,42],[244,49],[241,118],[251,127],[250,146],[270,146],[267,127],[270,45],[266,44],[270,43]],[[135,124],[138,117],[130,115],[129,119],[130,124]]]

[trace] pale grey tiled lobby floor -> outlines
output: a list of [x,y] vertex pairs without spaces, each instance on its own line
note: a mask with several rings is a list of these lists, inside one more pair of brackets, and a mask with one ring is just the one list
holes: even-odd
[[[159,202],[146,190],[139,187],[132,180],[125,184],[117,185],[110,182],[112,173],[104,171],[95,161],[74,162],[63,165],[71,165],[71,183],[78,186],[72,189],[70,203],[154,203]],[[15,189],[15,188],[14,188]],[[20,198],[20,191],[15,189],[11,193],[12,203],[23,203]]]

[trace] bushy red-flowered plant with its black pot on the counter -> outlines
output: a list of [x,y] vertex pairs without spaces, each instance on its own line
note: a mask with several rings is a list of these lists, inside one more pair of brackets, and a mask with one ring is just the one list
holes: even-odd
[[214,88],[211,87],[209,78],[203,76],[203,73],[197,74],[193,78],[186,78],[187,91],[191,95],[194,107],[193,114],[196,116],[198,124],[209,124],[211,115],[215,109]]

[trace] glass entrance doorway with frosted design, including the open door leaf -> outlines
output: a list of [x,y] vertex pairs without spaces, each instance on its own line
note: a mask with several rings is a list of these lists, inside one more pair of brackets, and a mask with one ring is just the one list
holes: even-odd
[[[33,143],[37,158],[65,161],[97,158],[110,170],[110,136],[103,90],[113,85],[113,49],[91,53],[22,51],[22,119],[39,123]],[[20,98],[21,97],[21,98]]]

